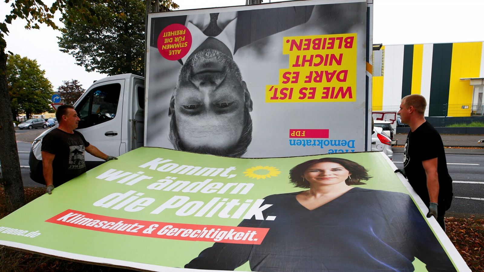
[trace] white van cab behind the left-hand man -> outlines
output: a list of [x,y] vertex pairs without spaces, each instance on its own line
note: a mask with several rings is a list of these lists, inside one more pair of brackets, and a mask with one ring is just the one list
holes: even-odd
[[[77,131],[104,153],[119,156],[143,146],[144,78],[133,74],[108,76],[94,82],[74,103],[81,119]],[[41,141],[52,127],[32,143],[30,178],[45,183],[42,174]],[[104,160],[86,153],[87,169]]]

